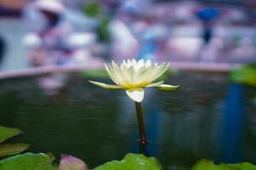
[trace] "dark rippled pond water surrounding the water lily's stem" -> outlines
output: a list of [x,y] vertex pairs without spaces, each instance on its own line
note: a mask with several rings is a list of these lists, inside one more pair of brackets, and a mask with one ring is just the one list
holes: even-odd
[[[124,91],[97,88],[86,79],[71,75],[50,96],[35,78],[1,81],[0,124],[22,129],[14,140],[32,144],[29,151],[78,156],[90,167],[138,153],[134,103]],[[148,155],[165,169],[190,167],[201,158],[256,163],[252,89],[219,74],[183,72],[166,82],[181,88],[148,89],[143,100]]]

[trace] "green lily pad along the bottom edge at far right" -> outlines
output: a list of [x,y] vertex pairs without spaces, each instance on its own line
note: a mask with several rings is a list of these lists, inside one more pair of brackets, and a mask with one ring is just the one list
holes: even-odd
[[247,162],[215,165],[213,161],[201,160],[195,163],[191,170],[256,170],[256,166]]

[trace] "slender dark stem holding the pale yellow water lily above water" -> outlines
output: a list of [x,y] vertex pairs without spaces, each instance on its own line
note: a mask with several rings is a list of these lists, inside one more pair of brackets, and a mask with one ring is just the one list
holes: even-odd
[[145,127],[143,122],[143,110],[141,103],[135,102],[136,111],[137,111],[137,124],[140,132],[140,143],[147,144],[147,138],[145,133]]

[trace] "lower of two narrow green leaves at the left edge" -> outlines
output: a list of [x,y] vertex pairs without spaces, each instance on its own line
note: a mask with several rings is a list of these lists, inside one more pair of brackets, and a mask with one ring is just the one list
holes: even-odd
[[20,154],[28,147],[29,144],[2,144],[0,145],[0,157]]

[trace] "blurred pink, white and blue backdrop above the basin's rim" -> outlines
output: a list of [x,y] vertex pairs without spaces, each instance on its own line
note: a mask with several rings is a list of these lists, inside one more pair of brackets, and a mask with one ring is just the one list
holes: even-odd
[[255,62],[253,0],[1,0],[1,71],[131,57]]

